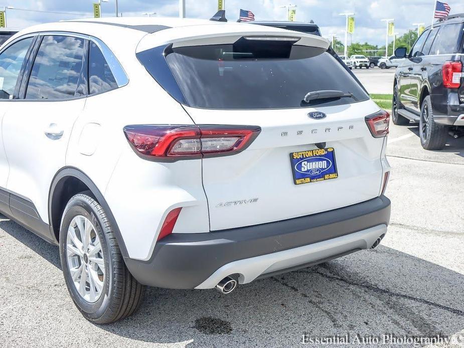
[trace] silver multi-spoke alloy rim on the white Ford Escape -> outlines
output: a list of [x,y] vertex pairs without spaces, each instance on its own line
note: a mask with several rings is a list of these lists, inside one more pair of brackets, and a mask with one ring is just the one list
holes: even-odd
[[87,302],[98,301],[105,280],[105,262],[100,238],[89,219],[73,218],[66,238],[69,273],[79,295]]

